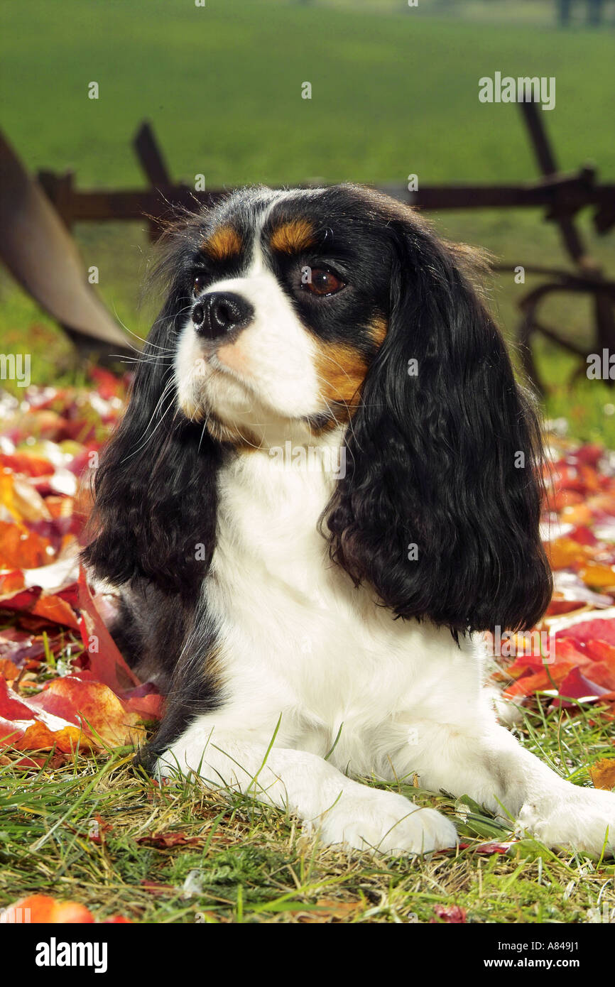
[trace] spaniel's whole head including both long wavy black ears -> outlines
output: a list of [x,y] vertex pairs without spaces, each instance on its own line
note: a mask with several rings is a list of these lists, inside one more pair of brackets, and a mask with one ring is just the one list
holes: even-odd
[[195,586],[224,448],[339,429],[321,530],[356,584],[454,633],[538,619],[537,421],[458,248],[371,190],[256,189],[187,219],[164,266],[97,478],[95,569]]

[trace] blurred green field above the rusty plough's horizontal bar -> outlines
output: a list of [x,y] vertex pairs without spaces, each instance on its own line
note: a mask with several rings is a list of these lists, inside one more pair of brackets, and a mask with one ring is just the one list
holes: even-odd
[[497,69],[556,76],[545,119],[562,167],[593,157],[615,175],[609,31],[288,0],[33,0],[3,19],[3,128],[32,168],[70,166],[83,185],[140,184],[129,141],[144,116],[174,176],[211,186],[529,179],[516,108],[478,102]]

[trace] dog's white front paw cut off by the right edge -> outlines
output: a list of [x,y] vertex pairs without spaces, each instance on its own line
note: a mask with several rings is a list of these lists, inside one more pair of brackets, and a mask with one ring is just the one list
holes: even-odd
[[553,799],[521,808],[517,829],[528,832],[549,847],[566,846],[600,854],[608,829],[606,848],[615,853],[615,794],[567,785]]

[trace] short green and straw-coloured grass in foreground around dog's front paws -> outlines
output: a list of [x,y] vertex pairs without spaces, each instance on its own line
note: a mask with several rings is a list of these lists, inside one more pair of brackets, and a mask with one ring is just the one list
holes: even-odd
[[[556,723],[537,701],[520,733],[584,784],[586,764],[612,753],[609,731],[588,709]],[[438,905],[458,905],[475,923],[585,923],[615,909],[612,860],[531,839],[481,854],[509,830],[463,799],[389,786],[454,818],[465,849],[415,860],[348,854],[246,797],[198,782],[160,788],[130,757],[122,749],[29,774],[0,768],[0,907],[46,892],[101,919],[146,923],[429,922]]]

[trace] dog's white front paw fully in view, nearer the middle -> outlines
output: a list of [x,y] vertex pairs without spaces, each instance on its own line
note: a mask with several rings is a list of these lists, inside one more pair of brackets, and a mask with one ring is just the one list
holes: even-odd
[[325,812],[319,832],[329,845],[388,854],[426,854],[457,843],[457,830],[440,812],[419,808],[394,792],[368,788],[343,796]]

